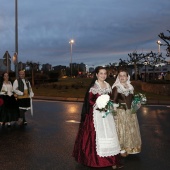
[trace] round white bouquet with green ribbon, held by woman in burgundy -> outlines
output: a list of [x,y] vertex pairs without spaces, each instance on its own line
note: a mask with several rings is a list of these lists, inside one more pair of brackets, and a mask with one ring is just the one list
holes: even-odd
[[115,113],[114,107],[118,107],[117,104],[113,103],[110,100],[110,96],[108,94],[103,94],[99,96],[96,100],[97,110],[102,112],[102,117],[105,118],[109,113]]

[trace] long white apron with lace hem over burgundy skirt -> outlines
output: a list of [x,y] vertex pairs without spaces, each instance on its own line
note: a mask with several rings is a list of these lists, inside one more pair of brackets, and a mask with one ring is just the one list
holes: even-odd
[[113,116],[108,114],[102,118],[102,113],[94,107],[93,122],[96,131],[97,155],[107,157],[119,154],[120,145]]

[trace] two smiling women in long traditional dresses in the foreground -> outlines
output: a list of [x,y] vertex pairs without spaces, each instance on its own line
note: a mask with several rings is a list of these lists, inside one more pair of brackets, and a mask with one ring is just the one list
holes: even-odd
[[[73,157],[90,167],[122,168],[122,156],[141,151],[137,115],[131,112],[134,88],[126,70],[120,70],[112,87],[105,80],[107,70],[99,66],[86,92]],[[96,100],[108,94],[115,114],[103,117]]]

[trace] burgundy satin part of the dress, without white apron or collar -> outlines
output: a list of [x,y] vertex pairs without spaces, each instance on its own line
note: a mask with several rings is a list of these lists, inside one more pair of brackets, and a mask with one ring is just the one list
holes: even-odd
[[85,121],[80,123],[76,137],[73,157],[78,163],[90,167],[107,167],[119,165],[119,155],[100,157],[96,152],[96,131],[93,123],[93,105],[101,94],[89,92],[90,111]]

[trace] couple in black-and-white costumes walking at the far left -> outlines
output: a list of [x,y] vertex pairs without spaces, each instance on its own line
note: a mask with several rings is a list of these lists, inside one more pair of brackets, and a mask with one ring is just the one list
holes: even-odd
[[25,112],[32,108],[34,93],[30,82],[25,79],[25,71],[19,71],[19,78],[13,83],[9,74],[3,73],[0,81],[0,123],[2,126],[27,125]]

